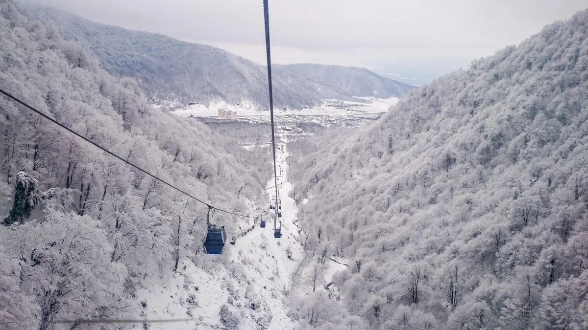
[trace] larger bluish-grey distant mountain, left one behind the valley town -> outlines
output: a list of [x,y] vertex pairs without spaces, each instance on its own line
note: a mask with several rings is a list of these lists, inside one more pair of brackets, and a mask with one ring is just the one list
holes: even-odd
[[[137,79],[149,96],[266,106],[266,69],[250,60],[208,45],[91,22],[65,11],[37,8],[34,12],[42,21],[58,24],[66,39],[91,50],[112,75]],[[318,104],[319,99],[276,79],[275,102],[299,108]]]

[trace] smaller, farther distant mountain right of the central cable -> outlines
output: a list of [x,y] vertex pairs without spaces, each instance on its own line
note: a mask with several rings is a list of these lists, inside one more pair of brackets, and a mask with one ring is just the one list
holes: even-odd
[[290,75],[328,85],[337,92],[349,96],[402,97],[417,88],[384,78],[363,68],[321,64],[280,65],[279,68]]

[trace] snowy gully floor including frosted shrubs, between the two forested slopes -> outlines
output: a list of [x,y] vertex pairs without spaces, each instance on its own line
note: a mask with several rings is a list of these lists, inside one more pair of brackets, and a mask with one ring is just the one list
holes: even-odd
[[[283,177],[288,174],[283,163],[286,156],[287,150],[278,157],[278,164],[283,164]],[[268,190],[273,188],[273,182],[273,178],[268,181]],[[178,274],[163,280],[153,278],[137,289],[136,299],[146,302],[141,315],[148,319],[189,318],[173,323],[178,330],[195,326],[308,329],[320,328],[333,319],[355,329],[363,328],[362,321],[345,315],[336,302],[338,289],[332,284],[329,288],[324,286],[332,281],[335,272],[348,267],[330,259],[323,263],[318,256],[303,253],[300,243],[305,240],[305,233],[298,233],[297,206],[293,198],[287,197],[290,188],[287,181],[280,185],[282,238],[273,237],[273,221],[268,216],[266,228],[260,228],[259,221],[246,224],[254,226],[235,245],[228,245],[222,257],[199,255],[195,264],[202,264],[202,268],[186,261]],[[320,267],[315,268],[316,265]],[[316,285],[310,281],[313,269],[319,270]],[[219,315],[219,311],[224,312]],[[170,328],[165,323],[148,325],[150,329]]]

